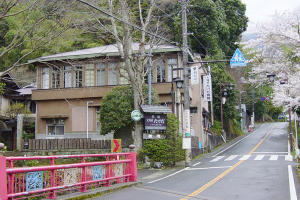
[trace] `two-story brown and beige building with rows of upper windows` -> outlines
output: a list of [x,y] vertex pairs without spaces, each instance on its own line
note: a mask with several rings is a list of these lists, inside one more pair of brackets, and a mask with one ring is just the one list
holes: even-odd
[[[137,52],[138,46],[139,43],[132,43],[133,53]],[[156,89],[160,103],[170,107],[171,67],[182,67],[181,49],[172,45],[154,46],[152,54],[152,87]],[[192,61],[200,59],[191,54],[189,58]],[[29,61],[37,66],[37,89],[32,90],[32,100],[36,102],[35,138],[86,138],[87,134],[92,139],[113,137],[112,133],[100,135],[98,118],[105,93],[115,85],[130,83],[116,45],[63,52]],[[199,74],[206,75],[206,69],[199,67]],[[183,71],[173,70],[173,77],[177,76],[183,79]],[[176,90],[175,84],[174,88]],[[180,114],[183,113],[183,89],[180,92],[181,100],[175,105],[175,113],[183,121],[183,114]],[[205,141],[203,129],[208,126],[208,104],[202,98],[202,84],[190,85],[189,95],[191,132],[198,141]]]

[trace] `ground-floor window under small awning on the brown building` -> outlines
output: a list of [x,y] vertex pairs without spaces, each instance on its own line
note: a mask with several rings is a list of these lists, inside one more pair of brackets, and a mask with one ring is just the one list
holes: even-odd
[[63,135],[64,120],[62,118],[48,118],[46,120],[47,135]]

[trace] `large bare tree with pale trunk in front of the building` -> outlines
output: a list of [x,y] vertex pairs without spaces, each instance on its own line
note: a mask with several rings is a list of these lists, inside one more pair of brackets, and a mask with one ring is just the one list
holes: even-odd
[[[115,42],[119,50],[120,57],[125,62],[125,70],[133,87],[134,109],[140,109],[139,104],[143,104],[142,84],[144,80],[144,65],[147,62],[145,53],[146,45],[155,48],[166,37],[168,29],[165,27],[163,17],[159,15],[159,10],[154,5],[168,3],[168,1],[148,0],[104,0],[101,7],[97,6],[97,1],[88,3],[78,0],[88,5],[91,14],[97,22],[95,29],[109,35]],[[103,4],[106,2],[106,9]],[[99,12],[95,12],[95,9]],[[104,14],[104,15],[103,15]],[[109,21],[107,20],[109,19]],[[165,27],[165,28],[164,28]],[[138,52],[133,52],[132,42],[139,42]],[[136,149],[142,146],[142,124],[135,122],[134,133],[132,135]]]

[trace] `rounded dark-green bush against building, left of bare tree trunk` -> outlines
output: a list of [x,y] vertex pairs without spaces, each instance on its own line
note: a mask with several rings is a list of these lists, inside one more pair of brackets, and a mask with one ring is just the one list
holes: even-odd
[[[147,86],[143,86],[143,96],[147,95]],[[158,95],[152,88],[152,104],[157,104]],[[133,90],[131,85],[118,85],[102,98],[100,108],[101,134],[132,126],[130,113],[133,110]]]

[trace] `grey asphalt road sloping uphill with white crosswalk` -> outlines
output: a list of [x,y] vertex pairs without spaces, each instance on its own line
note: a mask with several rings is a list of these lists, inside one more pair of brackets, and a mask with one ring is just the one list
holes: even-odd
[[266,123],[191,167],[139,170],[142,185],[94,199],[296,200],[300,179],[288,152],[287,123]]

